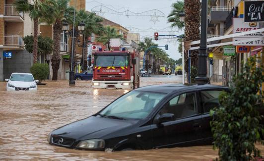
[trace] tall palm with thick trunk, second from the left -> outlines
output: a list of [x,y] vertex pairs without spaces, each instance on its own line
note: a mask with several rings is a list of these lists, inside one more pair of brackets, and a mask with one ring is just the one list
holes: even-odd
[[58,70],[60,68],[61,55],[60,55],[60,41],[61,33],[63,32],[63,21],[70,21],[74,13],[73,7],[68,7],[69,0],[48,0],[47,3],[53,8],[49,12],[49,16],[44,18],[49,24],[53,25],[53,40],[54,49],[52,55],[52,80],[58,80]]

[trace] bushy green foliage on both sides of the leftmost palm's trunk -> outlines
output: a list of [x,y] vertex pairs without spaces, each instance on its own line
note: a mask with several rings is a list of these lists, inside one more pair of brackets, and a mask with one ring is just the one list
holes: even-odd
[[[33,52],[33,36],[23,38],[25,48],[29,53]],[[38,54],[51,54],[53,51],[53,40],[49,37],[38,36]]]

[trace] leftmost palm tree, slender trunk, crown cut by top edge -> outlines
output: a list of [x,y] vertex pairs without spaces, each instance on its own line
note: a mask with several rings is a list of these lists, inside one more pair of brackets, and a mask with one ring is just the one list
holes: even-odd
[[41,17],[47,16],[46,13],[50,11],[50,7],[45,3],[46,0],[32,0],[32,3],[28,0],[16,0],[14,5],[18,12],[28,13],[34,24],[34,41],[33,41],[33,63],[38,60],[38,22]]

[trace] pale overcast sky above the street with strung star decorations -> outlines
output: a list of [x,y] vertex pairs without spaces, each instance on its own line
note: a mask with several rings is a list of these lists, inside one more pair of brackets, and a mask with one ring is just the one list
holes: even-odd
[[[176,0],[86,0],[86,10],[91,11],[92,8],[97,11],[101,10],[102,12],[97,13],[98,15],[103,15],[103,17],[122,25],[132,32],[139,33],[140,41],[143,41],[144,37],[154,39],[154,32],[159,32],[159,35],[181,35],[184,33],[184,31],[178,30],[177,28],[170,28],[170,24],[167,23],[167,16],[171,10],[170,6],[175,1]],[[150,15],[155,13],[154,10],[138,14],[137,16],[131,13],[140,13],[152,9],[157,9],[156,15],[164,15],[164,17],[152,17],[153,19],[158,18],[159,20],[155,24],[153,21],[150,21]],[[127,10],[131,12],[128,13]],[[159,46],[168,44],[169,50],[166,51],[167,54],[173,59],[179,59],[181,54],[179,54],[177,50],[179,45],[178,42],[175,38],[166,38],[169,37],[160,36],[159,39],[163,40],[153,40],[153,42],[159,44]]]

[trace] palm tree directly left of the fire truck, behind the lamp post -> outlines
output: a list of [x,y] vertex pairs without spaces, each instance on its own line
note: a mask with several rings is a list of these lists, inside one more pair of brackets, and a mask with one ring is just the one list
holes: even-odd
[[83,51],[83,66],[82,70],[87,69],[87,42],[89,41],[89,37],[92,35],[92,33],[96,34],[97,36],[102,36],[104,34],[105,28],[103,27],[102,23],[103,18],[96,16],[95,13],[86,12],[85,10],[80,10],[78,13],[79,18],[83,21],[85,24],[85,29],[83,31],[84,36],[82,37],[82,41],[84,42],[82,46]]

